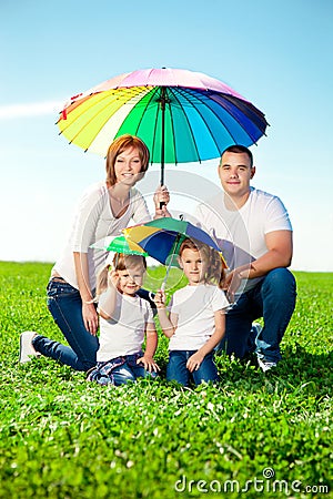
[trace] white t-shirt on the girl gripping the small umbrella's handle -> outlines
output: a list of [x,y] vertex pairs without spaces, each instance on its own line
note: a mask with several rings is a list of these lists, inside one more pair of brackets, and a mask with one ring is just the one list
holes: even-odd
[[214,313],[229,307],[222,289],[209,284],[178,289],[169,309],[178,315],[175,333],[170,338],[169,350],[198,350],[215,329]]

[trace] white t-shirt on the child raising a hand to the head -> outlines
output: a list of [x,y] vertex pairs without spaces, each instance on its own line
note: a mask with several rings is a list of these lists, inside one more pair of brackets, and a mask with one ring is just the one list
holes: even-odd
[[[103,309],[107,293],[101,294],[99,307]],[[153,323],[153,313],[147,299],[117,293],[117,305],[111,319],[100,317],[100,347],[98,361],[137,354],[142,348],[145,325]]]

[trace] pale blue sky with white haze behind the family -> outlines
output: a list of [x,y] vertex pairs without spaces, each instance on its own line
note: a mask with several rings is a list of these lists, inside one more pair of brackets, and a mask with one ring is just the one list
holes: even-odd
[[[58,136],[62,103],[170,67],[218,78],[265,113],[253,185],[290,212],[292,268],[333,271],[332,0],[2,0],[0,42],[0,259],[54,261],[78,197],[104,177],[102,157]],[[215,165],[191,167],[218,182]]]

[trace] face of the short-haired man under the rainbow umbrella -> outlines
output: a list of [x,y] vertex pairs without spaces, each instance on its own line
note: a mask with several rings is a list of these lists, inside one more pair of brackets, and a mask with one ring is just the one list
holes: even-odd
[[223,190],[231,197],[242,197],[249,193],[250,180],[255,173],[255,167],[250,164],[246,153],[225,152],[222,155],[219,176]]

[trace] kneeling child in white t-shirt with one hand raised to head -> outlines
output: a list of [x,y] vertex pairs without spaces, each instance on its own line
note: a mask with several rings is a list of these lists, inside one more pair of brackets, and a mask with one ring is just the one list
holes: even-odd
[[107,261],[98,276],[100,346],[98,364],[88,371],[87,379],[118,386],[139,377],[157,376],[159,366],[153,355],[158,334],[149,302],[137,294],[142,286],[145,258],[117,253],[113,265]]

